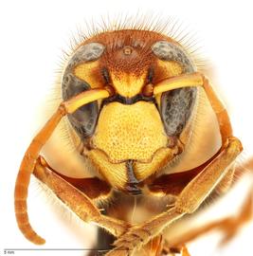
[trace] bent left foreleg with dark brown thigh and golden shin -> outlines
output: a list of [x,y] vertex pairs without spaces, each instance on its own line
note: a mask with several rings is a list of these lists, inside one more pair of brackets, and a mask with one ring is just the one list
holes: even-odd
[[[74,211],[81,220],[85,222],[92,221],[102,227],[102,229],[99,228],[98,244],[95,248],[103,251],[110,250],[115,237],[129,228],[123,221],[101,215],[94,205],[93,201],[97,201],[99,198],[104,200],[111,194],[111,187],[99,178],[70,178],[58,174],[46,163],[42,156],[38,158],[33,174],[45,183],[63,201],[63,204]],[[93,255],[102,254],[98,254],[98,251],[94,250],[90,252],[89,256]]]

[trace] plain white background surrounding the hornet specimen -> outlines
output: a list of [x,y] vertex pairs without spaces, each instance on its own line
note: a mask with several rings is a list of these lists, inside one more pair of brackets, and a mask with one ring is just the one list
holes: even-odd
[[[214,66],[213,81],[226,102],[235,136],[244,142],[246,158],[253,153],[252,9],[251,1],[244,0],[1,1],[0,255],[7,247],[36,247],[16,228],[14,181],[30,139],[45,122],[40,116],[52,88],[54,70],[62,49],[67,48],[77,27],[91,19],[96,23],[100,16],[135,15],[137,11],[153,13],[165,20],[172,16],[182,21],[186,31],[197,35],[199,46]],[[228,199],[227,213],[236,209],[236,203],[242,199],[241,193]],[[89,247],[94,240],[94,231],[88,225],[81,224],[36,186],[29,191],[28,209],[33,227],[47,241],[45,247]],[[214,214],[220,211],[214,210]],[[252,231],[252,225],[248,226],[223,250],[215,247],[216,237],[199,240],[190,247],[192,255],[249,255],[252,253]],[[37,253],[58,255],[57,252]],[[16,255],[28,254],[17,251]],[[71,255],[82,253],[71,252]]]

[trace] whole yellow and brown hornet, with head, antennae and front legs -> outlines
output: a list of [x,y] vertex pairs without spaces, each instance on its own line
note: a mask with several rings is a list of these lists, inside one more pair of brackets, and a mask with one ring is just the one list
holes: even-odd
[[[165,255],[183,245],[188,238],[178,245],[165,241],[166,228],[197,210],[210,193],[230,186],[243,149],[225,107],[187,50],[156,31],[101,32],[69,56],[62,98],[29,145],[16,180],[16,219],[27,239],[45,243],[27,217],[34,174],[83,221],[115,237],[107,256]],[[83,173],[87,167],[93,176],[63,174],[40,155],[64,116]],[[130,217],[134,197],[136,212],[143,212],[136,219]],[[114,209],[105,205],[100,212],[97,202],[109,199]],[[206,229],[190,230],[188,237]]]

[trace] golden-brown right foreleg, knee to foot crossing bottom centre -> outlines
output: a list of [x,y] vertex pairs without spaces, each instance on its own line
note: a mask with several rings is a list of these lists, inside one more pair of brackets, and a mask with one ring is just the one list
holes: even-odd
[[[167,210],[150,221],[129,229],[116,241],[116,249],[107,255],[132,255],[136,249],[147,244],[154,236],[162,232],[172,222],[181,218],[186,213],[196,210],[215,189],[216,184],[226,174],[227,167],[242,151],[241,142],[231,137],[224,149],[211,163],[198,174],[178,196],[172,209]],[[123,253],[124,251],[124,253]],[[118,254],[120,252],[121,254]]]

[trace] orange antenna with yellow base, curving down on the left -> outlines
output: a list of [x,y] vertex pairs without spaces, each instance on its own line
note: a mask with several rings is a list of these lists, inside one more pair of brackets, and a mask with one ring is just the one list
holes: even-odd
[[15,184],[15,214],[19,229],[34,244],[42,245],[45,240],[40,237],[30,226],[27,215],[27,188],[30,181],[36,160],[47,139],[61,121],[64,115],[73,113],[81,105],[107,98],[110,93],[103,89],[93,89],[84,91],[69,101],[63,101],[56,113],[45,123],[43,129],[34,137],[27,148],[27,152],[21,162],[19,173]]

